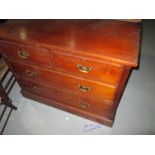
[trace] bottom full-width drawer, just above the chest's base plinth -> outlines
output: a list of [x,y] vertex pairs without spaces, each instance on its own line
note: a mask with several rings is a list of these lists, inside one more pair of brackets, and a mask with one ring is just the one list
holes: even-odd
[[22,89],[26,91],[41,95],[66,105],[70,105],[80,110],[95,113],[97,115],[103,115],[105,113],[109,113],[112,108],[111,106],[107,106],[104,102],[96,102],[94,100],[73,95],[40,83],[32,82],[25,78],[19,78],[18,80],[20,81]]

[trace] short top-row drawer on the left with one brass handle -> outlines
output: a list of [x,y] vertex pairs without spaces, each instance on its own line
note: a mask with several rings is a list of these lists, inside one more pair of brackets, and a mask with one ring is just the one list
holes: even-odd
[[[49,52],[44,48],[36,48],[14,44],[0,44],[5,57],[22,63],[49,66]],[[52,58],[51,58],[52,59]],[[51,60],[52,61],[52,60]]]

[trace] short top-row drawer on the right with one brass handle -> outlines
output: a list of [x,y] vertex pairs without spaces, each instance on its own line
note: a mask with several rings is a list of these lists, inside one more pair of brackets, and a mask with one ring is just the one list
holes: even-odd
[[122,73],[121,65],[98,62],[63,53],[54,52],[53,55],[57,70],[113,85],[117,85],[120,80]]

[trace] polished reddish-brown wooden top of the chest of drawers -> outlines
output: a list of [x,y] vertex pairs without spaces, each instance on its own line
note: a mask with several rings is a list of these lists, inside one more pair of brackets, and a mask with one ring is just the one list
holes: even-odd
[[115,20],[10,20],[0,26],[0,39],[136,67],[140,25]]

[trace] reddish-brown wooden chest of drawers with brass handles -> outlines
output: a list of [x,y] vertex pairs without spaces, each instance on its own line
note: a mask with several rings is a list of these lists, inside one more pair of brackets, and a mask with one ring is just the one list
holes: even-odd
[[112,126],[140,25],[113,20],[10,20],[0,50],[28,98]]

